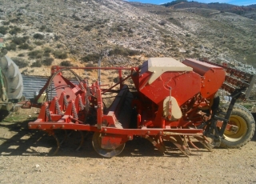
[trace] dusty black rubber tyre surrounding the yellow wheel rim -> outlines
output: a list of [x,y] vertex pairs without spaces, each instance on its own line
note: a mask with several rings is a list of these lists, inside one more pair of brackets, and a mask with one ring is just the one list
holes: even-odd
[[[228,106],[222,106],[220,107],[222,112],[226,112],[228,109]],[[240,148],[242,146],[245,146],[246,143],[250,142],[250,140],[254,137],[254,132],[255,132],[255,121],[253,115],[250,113],[249,110],[246,109],[246,107],[241,106],[241,105],[234,105],[234,109],[232,111],[231,115],[237,115],[243,118],[246,121],[247,124],[247,132],[246,135],[236,141],[236,142],[230,142],[227,141],[226,139],[222,139],[221,147],[223,148]]]

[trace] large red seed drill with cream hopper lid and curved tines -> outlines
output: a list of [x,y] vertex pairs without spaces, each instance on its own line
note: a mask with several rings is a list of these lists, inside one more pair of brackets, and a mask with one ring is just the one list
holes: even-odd
[[[118,70],[119,82],[110,88],[98,82],[89,85],[71,69]],[[74,84],[65,78],[62,74],[64,70],[74,74],[78,82]],[[123,70],[130,70],[130,75],[123,78]],[[134,82],[132,90],[124,83],[128,78]],[[181,63],[173,58],[150,58],[142,66],[131,68],[53,66],[51,76],[35,102],[43,93],[50,92],[51,82],[57,96],[42,104],[30,104],[41,110],[38,119],[28,126],[54,136],[58,145],[54,154],[62,144],[54,130],[78,130],[82,140],[77,150],[83,144],[82,132],[94,132],[94,150],[106,158],[121,154],[126,142],[137,136],[149,140],[162,154],[166,152],[165,142],[172,142],[182,154],[189,156],[193,151],[189,145],[199,149],[194,140],[212,151],[214,146],[223,144],[227,132],[231,132],[232,136],[236,134],[239,127],[230,123],[234,103],[238,98],[249,97],[254,78],[252,74],[231,70],[227,66],[193,59]],[[218,99],[214,98],[221,88],[230,92],[232,98],[222,117],[218,115]],[[102,100],[106,94],[114,93],[113,102],[106,108]],[[248,118],[248,121],[248,125],[255,127],[253,119]],[[235,142],[234,138],[230,139],[234,140],[233,145],[241,146],[253,134],[254,129],[244,132],[242,144]]]

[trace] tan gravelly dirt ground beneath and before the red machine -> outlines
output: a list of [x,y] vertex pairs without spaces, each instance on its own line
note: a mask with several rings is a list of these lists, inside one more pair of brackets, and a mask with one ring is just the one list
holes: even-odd
[[[241,149],[200,146],[189,158],[170,146],[165,155],[145,139],[127,142],[122,154],[102,158],[91,144],[92,134],[69,134],[56,156],[54,138],[28,130],[36,117],[10,114],[0,122],[0,183],[256,183],[256,136]],[[64,134],[58,134],[59,138]]]

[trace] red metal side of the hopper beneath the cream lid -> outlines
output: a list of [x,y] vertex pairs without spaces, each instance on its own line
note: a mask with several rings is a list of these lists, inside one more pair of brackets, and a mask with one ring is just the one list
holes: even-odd
[[150,74],[146,72],[140,76],[139,86],[142,87],[139,90],[156,104],[170,96],[170,88],[171,96],[176,98],[179,106],[200,92],[201,77],[193,71],[166,72],[152,84],[147,83]]

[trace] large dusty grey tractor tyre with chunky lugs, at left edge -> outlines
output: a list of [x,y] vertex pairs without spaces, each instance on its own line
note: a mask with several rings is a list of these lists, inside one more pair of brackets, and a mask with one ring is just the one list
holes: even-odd
[[21,98],[23,92],[22,74],[18,66],[7,56],[0,58],[0,68],[2,70],[3,81],[6,87],[7,98]]

